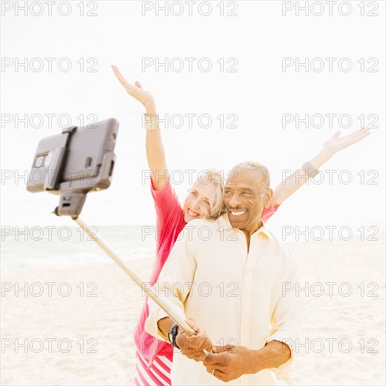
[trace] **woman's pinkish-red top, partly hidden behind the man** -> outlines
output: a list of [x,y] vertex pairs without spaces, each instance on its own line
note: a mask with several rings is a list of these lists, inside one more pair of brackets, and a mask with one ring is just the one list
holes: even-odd
[[[171,185],[170,180],[160,190],[154,190],[153,181],[151,181],[151,191],[154,199],[154,206],[156,208],[157,215],[157,253],[156,262],[154,264],[152,276],[150,277],[150,283],[153,285],[157,282],[159,273],[168,258],[171,249],[174,246],[178,235],[185,227],[186,222],[184,220],[184,212],[180,202],[178,201],[177,194]],[[264,208],[261,218],[263,221],[267,221],[279,208],[279,204]],[[151,366],[152,361],[157,355],[164,355],[171,361],[173,360],[173,346],[165,342],[154,338],[145,331],[145,321],[149,315],[149,306],[147,305],[147,297],[145,304],[143,305],[140,320],[134,331],[134,341],[137,346],[138,352],[142,354],[149,361]]]

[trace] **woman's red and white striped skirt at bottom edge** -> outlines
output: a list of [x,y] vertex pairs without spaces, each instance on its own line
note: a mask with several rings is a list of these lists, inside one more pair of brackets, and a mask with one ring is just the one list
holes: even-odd
[[[147,359],[137,351],[137,364],[135,365],[135,385],[137,386],[165,386],[171,385],[171,359],[156,357],[150,368],[147,368]],[[169,357],[171,358],[171,357]]]

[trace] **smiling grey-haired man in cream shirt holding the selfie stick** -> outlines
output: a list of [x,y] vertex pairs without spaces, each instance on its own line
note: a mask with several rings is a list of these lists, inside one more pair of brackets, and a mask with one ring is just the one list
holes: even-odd
[[166,312],[149,304],[146,330],[171,336],[181,349],[172,385],[276,385],[272,371],[285,378],[293,359],[285,342],[300,335],[302,300],[282,291],[298,281],[295,260],[260,217],[272,199],[269,172],[253,162],[233,170],[227,214],[189,222],[156,287],[182,319],[194,318],[189,325],[197,335],[173,328]]

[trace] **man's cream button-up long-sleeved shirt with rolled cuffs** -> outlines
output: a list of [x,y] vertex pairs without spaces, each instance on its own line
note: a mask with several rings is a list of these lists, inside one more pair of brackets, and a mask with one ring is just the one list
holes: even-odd
[[[286,342],[291,358],[271,370],[287,382],[293,361],[293,344],[300,338],[303,300],[295,291],[282,291],[297,282],[295,259],[266,225],[246,237],[232,228],[227,215],[218,220],[192,220],[183,229],[161,270],[154,289],[182,319],[197,320],[213,345],[240,345],[259,350],[271,340]],[[168,316],[149,299],[148,333],[168,340],[157,321]],[[272,371],[244,374],[227,385],[277,385]],[[224,385],[206,371],[201,361],[188,359],[175,349],[172,385]]]

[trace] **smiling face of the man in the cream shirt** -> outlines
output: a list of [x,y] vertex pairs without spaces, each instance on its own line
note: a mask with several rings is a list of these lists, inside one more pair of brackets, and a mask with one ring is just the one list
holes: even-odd
[[225,206],[234,228],[254,232],[271,199],[272,189],[262,192],[258,176],[249,169],[238,170],[236,177],[229,178],[225,185]]

